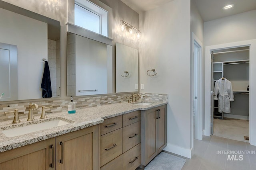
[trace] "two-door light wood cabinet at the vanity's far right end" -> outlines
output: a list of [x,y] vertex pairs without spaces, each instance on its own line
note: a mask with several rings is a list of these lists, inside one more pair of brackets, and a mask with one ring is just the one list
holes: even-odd
[[142,111],[141,164],[146,166],[166,147],[166,105]]

